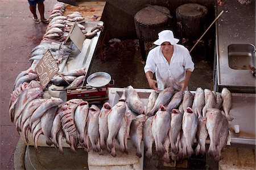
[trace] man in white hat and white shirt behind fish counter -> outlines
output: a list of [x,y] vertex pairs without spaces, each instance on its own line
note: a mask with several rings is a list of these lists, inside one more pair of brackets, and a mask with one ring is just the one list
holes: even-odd
[[[159,32],[158,40],[154,42],[159,46],[148,52],[144,67],[150,88],[158,91],[176,85],[181,92],[187,90],[189,77],[195,67],[188,49],[178,42],[172,31]],[[156,80],[153,79],[154,73]]]

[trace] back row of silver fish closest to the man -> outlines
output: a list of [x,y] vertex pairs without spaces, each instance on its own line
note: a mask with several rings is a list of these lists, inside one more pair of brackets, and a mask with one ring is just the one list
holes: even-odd
[[[127,88],[132,89],[131,86]],[[181,112],[184,112],[187,107],[191,107],[197,117],[200,118],[205,117],[207,109],[216,108],[224,111],[228,121],[233,120],[229,115],[232,107],[232,95],[227,88],[223,88],[221,93],[219,93],[199,87],[195,93],[187,91],[184,95],[182,92],[176,92],[172,87],[162,90],[159,94],[152,91],[144,110],[144,103],[139,98],[138,93],[133,90],[133,93],[129,94],[131,96],[127,99],[127,104],[137,114],[152,116],[159,109],[160,105],[164,105],[168,110],[179,108]]]

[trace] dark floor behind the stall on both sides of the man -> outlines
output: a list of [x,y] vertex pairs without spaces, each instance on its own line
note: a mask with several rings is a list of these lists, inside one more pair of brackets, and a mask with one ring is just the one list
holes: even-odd
[[[96,52],[89,74],[99,71],[107,72],[114,79],[114,86],[119,88],[128,85],[132,85],[134,88],[149,88],[143,71],[144,65],[141,63],[142,58],[137,45],[138,41],[128,41],[129,43],[122,42],[114,47],[107,46],[105,48],[105,62],[100,60]],[[132,43],[134,43],[134,49],[131,47]],[[194,91],[197,87],[213,90],[213,53],[212,49],[208,49],[200,43],[192,51],[191,56],[195,63],[195,70],[189,81],[189,90]]]

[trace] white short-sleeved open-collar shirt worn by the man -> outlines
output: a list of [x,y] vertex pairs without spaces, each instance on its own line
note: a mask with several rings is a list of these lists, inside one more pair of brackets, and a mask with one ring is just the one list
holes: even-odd
[[159,45],[148,52],[144,72],[155,73],[158,89],[163,90],[170,86],[172,82],[183,81],[185,79],[185,71],[193,72],[194,68],[191,55],[183,45],[174,45],[174,53],[170,64],[168,64]]

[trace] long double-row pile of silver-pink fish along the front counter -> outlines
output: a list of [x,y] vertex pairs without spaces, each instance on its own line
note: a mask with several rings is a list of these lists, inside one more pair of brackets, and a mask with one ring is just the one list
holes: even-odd
[[[143,141],[145,156],[151,157],[155,146],[155,153],[170,163],[169,152],[180,158],[205,154],[208,135],[207,153],[220,160],[228,138],[225,113],[228,115],[231,108],[231,93],[226,88],[216,97],[208,89],[197,88],[195,94],[187,91],[183,96],[166,88],[159,94],[153,91],[144,106],[133,86],[127,86],[118,103],[110,106],[105,102],[101,109],[82,99],[64,103],[60,98],[44,99],[42,93],[39,82],[33,80],[16,88],[10,99],[11,121],[27,142],[31,142],[30,132],[35,147],[43,134],[46,144],[53,144],[60,152],[65,139],[73,152],[82,147],[86,152],[93,150],[101,155],[106,150],[116,156],[116,143],[119,151],[128,154],[130,139],[138,157],[142,156]],[[195,139],[197,146],[193,150]]]

